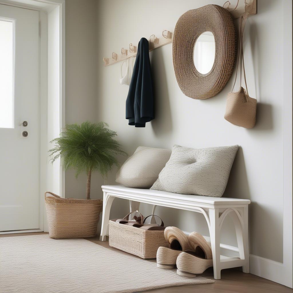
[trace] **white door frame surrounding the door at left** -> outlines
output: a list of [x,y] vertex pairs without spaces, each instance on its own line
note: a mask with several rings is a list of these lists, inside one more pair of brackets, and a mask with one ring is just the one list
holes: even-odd
[[[60,133],[62,128],[65,127],[65,0],[0,0],[0,4],[16,6],[25,9],[39,11],[40,19],[40,59],[39,59],[39,70],[40,70],[40,219],[39,227],[36,230],[24,230],[24,231],[11,231],[1,232],[0,234],[6,233],[24,233],[34,231],[48,231],[47,220],[45,213],[45,202],[44,193],[47,190],[51,190],[62,197],[65,197],[65,171],[61,166],[54,163],[55,168],[60,168],[59,187],[57,190],[52,190],[52,182],[49,178],[52,178],[54,170],[48,167],[48,139],[47,121],[50,119],[50,113],[48,113],[48,80],[49,72],[47,66],[47,37],[48,37],[48,15],[57,7],[59,7],[59,109],[56,109],[60,113],[59,126],[60,129],[57,131]],[[49,24],[50,25],[50,24]],[[57,58],[58,58],[57,57]],[[49,119],[48,119],[49,118]],[[50,121],[50,120],[49,120]]]

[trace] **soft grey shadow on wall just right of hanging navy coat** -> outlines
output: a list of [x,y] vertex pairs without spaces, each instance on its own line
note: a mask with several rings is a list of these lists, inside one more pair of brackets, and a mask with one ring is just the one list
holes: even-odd
[[162,50],[153,51],[150,59],[155,98],[155,119],[151,126],[155,136],[168,136],[172,132],[172,117]]

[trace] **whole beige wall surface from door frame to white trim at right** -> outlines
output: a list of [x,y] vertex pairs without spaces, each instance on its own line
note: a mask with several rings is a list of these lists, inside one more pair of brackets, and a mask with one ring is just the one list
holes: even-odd
[[[120,52],[141,37],[173,32],[179,16],[222,0],[100,0],[66,1],[66,120],[102,120],[117,131],[125,150],[132,154],[142,145],[171,148],[239,144],[224,196],[248,198],[250,252],[282,262],[283,229],[283,125],[282,125],[282,1],[259,0],[258,15],[249,18],[244,34],[248,89],[258,100],[257,124],[251,129],[224,120],[226,96],[232,79],[214,98],[193,100],[180,91],[173,71],[172,45],[154,50],[151,66],[156,97],[156,119],[146,128],[134,128],[125,119],[127,86],[119,84],[120,65],[103,67],[103,57]],[[234,73],[235,74],[235,73]],[[125,158],[121,158],[123,162]],[[93,198],[101,198],[104,180],[93,177]],[[115,183],[115,171],[106,181]],[[85,176],[67,172],[66,194],[84,196]],[[115,200],[112,217],[122,217],[127,203]],[[147,215],[151,207],[142,205]],[[157,208],[167,225],[208,235],[203,216],[176,209]],[[222,242],[236,245],[234,229],[224,223]]]

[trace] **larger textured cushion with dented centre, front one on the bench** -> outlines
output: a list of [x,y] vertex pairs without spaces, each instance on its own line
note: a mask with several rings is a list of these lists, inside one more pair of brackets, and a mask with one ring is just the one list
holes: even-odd
[[221,197],[238,147],[191,149],[174,145],[170,160],[151,189]]

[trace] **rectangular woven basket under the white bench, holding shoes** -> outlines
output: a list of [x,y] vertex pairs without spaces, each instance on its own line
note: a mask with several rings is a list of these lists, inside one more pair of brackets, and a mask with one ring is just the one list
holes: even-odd
[[109,221],[109,245],[140,258],[156,258],[160,246],[169,247],[164,230],[143,230]]

